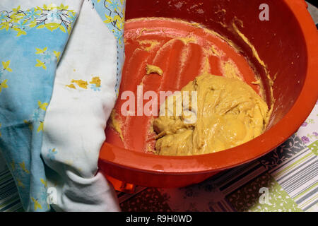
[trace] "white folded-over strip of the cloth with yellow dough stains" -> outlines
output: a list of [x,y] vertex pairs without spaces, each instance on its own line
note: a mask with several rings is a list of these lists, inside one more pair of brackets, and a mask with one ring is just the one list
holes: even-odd
[[[119,40],[95,7],[90,1],[83,3],[59,62],[45,116],[42,157],[50,168],[48,186],[57,191],[54,210],[119,210],[114,189],[98,172],[106,120],[116,100]],[[124,6],[116,9],[123,22]]]

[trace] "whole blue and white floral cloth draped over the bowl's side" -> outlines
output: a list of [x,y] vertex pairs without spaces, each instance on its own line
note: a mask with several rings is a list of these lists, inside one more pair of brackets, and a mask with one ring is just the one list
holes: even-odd
[[97,162],[120,83],[123,12],[122,0],[1,0],[0,150],[27,211],[119,210]]

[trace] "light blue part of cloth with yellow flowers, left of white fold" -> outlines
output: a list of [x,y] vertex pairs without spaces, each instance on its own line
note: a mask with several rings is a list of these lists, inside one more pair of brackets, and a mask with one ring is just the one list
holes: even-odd
[[40,157],[57,61],[82,1],[1,0],[0,150],[23,208],[49,210]]

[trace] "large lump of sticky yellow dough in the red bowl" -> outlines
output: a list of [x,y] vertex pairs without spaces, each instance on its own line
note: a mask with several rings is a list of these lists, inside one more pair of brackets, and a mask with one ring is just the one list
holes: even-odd
[[[192,91],[196,91],[196,105],[191,101]],[[181,104],[182,109],[189,109],[187,117],[184,111],[177,114],[176,104],[185,95],[190,96],[189,105],[185,106],[184,101]],[[179,96],[167,97],[160,106],[160,116],[153,122],[158,133],[155,149],[159,155],[218,152],[261,135],[269,117],[266,102],[246,83],[204,74],[182,88]]]

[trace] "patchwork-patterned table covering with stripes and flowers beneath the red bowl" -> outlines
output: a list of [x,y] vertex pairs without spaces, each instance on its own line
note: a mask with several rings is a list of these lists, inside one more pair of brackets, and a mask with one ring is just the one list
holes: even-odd
[[[308,11],[318,23],[318,10]],[[179,189],[117,192],[123,211],[318,211],[318,102],[297,133],[254,162]],[[23,211],[0,156],[0,211]]]

